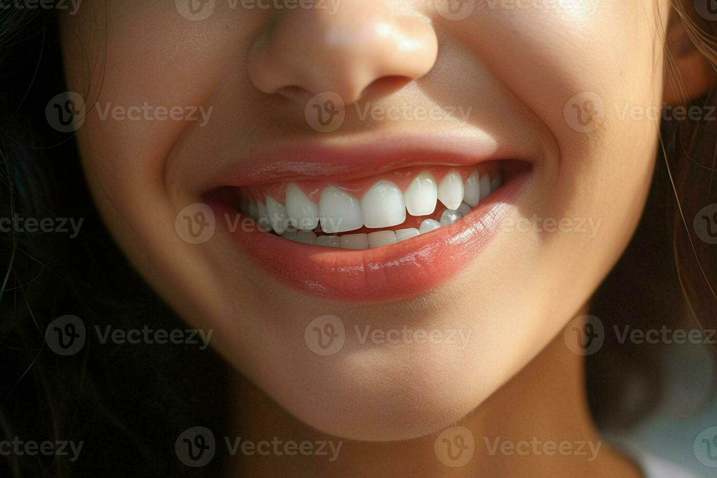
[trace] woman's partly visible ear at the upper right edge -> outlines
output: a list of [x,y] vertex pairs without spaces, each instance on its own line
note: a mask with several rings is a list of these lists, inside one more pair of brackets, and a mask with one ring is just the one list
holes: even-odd
[[665,57],[665,90],[663,101],[668,105],[684,105],[687,100],[704,95],[715,84],[717,72],[708,59],[695,47],[685,29],[684,21],[673,11],[667,32]]

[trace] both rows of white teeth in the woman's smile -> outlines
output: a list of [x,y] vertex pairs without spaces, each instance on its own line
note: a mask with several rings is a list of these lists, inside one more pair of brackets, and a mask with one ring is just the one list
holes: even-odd
[[[473,207],[502,184],[503,175],[500,171],[493,175],[485,173],[483,176],[473,171],[464,182],[460,173],[452,170],[438,185],[429,171],[423,171],[413,178],[404,193],[393,182],[384,180],[371,186],[361,200],[336,186],[327,186],[317,205],[296,183],[288,183],[286,206],[267,195],[266,205],[261,201],[242,201],[239,208],[244,216],[257,221],[265,231],[274,230],[290,241],[342,249],[369,249],[396,244],[453,224],[470,214]],[[321,229],[328,234],[354,231],[362,226],[397,226],[406,220],[406,211],[412,216],[432,214],[437,201],[447,208],[442,212],[440,221],[426,219],[418,229],[412,227],[343,236],[317,236],[313,231],[319,222]]]

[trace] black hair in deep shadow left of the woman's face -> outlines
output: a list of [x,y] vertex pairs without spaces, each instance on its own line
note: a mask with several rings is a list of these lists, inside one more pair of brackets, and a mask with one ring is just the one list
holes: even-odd
[[45,119],[47,102],[67,89],[54,14],[0,12],[0,217],[82,219],[76,237],[71,229],[0,233],[0,439],[84,441],[76,462],[2,457],[0,476],[216,476],[218,460],[191,469],[174,451],[191,426],[224,427],[227,365],[211,348],[87,340],[60,356],[45,343],[49,322],[68,314],[103,333],[185,325],[103,226],[72,135]]

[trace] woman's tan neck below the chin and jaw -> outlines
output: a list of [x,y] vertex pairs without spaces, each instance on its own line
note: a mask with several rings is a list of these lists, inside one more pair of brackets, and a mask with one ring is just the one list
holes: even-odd
[[[274,453],[272,445],[267,456],[245,456],[239,448],[229,460],[229,477],[640,476],[637,468],[604,443],[595,429],[587,406],[584,358],[566,347],[562,334],[521,373],[455,424],[470,431],[470,435],[463,431],[465,439],[472,436],[475,444],[473,458],[461,467],[448,467],[437,458],[442,454],[444,462],[451,462],[445,453],[451,442],[459,444],[455,435],[436,433],[380,443],[342,440],[294,419],[250,383],[242,381],[238,388],[236,434],[230,439],[241,436],[242,441],[257,443],[277,437],[298,444],[327,441],[327,454],[304,456],[298,452],[286,456]],[[435,448],[437,441],[440,445]],[[283,450],[283,444],[278,449]],[[452,457],[460,456],[457,448],[452,451]]]

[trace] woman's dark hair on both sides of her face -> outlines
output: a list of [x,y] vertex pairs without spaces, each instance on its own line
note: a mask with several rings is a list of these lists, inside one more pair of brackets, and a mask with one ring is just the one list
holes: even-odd
[[[700,23],[678,5],[683,21],[701,29],[688,29],[690,38],[714,60],[717,24]],[[217,475],[219,460],[190,469],[174,451],[174,437],[191,426],[224,429],[228,371],[211,349],[88,341],[80,353],[60,356],[45,343],[49,322],[67,314],[81,317],[88,329],[115,323],[173,329],[183,323],[138,277],[103,226],[72,135],[47,123],[47,102],[66,90],[54,14],[0,14],[0,217],[82,219],[74,238],[60,231],[0,233],[0,255],[7,259],[0,287],[0,438],[84,441],[77,462],[11,455],[3,457],[0,473]],[[714,105],[715,97],[697,101]],[[644,417],[660,383],[659,350],[617,346],[610,325],[652,327],[689,318],[687,297],[701,325],[717,327],[717,254],[691,224],[701,207],[717,202],[711,177],[715,128],[663,123],[662,136],[664,155],[635,238],[592,301],[608,334],[604,350],[587,360],[590,404],[603,426]],[[637,395],[635,383],[643,385]],[[630,400],[619,401],[624,396]]]

